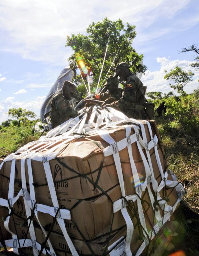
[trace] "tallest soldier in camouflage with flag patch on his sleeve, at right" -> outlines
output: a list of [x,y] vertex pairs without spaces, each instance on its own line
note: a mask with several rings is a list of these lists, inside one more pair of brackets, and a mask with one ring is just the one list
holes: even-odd
[[113,78],[118,77],[125,81],[122,97],[111,104],[105,104],[104,107],[113,107],[122,111],[129,118],[146,119],[145,111],[145,93],[141,80],[135,73],[130,71],[127,63],[121,62],[115,68]]

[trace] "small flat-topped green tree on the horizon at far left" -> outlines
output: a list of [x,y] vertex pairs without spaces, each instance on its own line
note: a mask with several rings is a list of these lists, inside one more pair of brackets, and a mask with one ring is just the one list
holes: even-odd
[[21,107],[17,108],[10,108],[8,111],[8,116],[12,116],[16,118],[18,121],[18,126],[20,126],[21,122],[24,122],[25,125],[29,118],[35,118],[36,115],[32,111],[28,111],[26,109],[22,109]]

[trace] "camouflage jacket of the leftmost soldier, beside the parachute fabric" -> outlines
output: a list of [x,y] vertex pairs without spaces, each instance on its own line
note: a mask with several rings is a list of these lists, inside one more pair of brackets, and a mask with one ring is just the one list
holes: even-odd
[[62,93],[58,93],[53,97],[51,102],[51,122],[53,128],[77,115],[77,111],[72,108],[70,102],[63,97]]

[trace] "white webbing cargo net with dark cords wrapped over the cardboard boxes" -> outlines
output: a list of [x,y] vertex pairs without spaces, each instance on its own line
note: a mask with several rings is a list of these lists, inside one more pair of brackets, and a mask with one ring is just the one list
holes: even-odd
[[[3,159],[0,170],[3,165],[10,163],[9,175],[2,174],[1,179],[5,178],[9,180],[8,196],[7,198],[0,198],[0,205],[2,206],[2,212],[5,213],[2,216],[3,225],[0,226],[0,246],[5,248],[12,247],[15,254],[25,254],[25,248],[32,248],[34,256],[43,254],[59,255],[64,253],[66,255],[83,255],[79,252],[73,243],[73,237],[69,236],[65,225],[65,220],[70,220],[75,229],[80,235],[80,240],[85,243],[89,250],[89,255],[98,255],[92,248],[92,242],[100,241],[104,238],[103,252],[100,255],[114,255],[111,252],[118,247],[118,243],[110,249],[110,241],[114,238],[114,235],[124,230],[123,241],[125,241],[125,253],[126,255],[141,255],[147,246],[153,246],[151,241],[155,239],[158,232],[170,220],[171,215],[175,211],[179,202],[184,194],[184,188],[181,183],[176,179],[174,173],[172,173],[166,163],[164,156],[163,163],[160,160],[160,152],[164,155],[164,149],[160,142],[160,136],[155,130],[156,125],[153,121],[147,120],[135,120],[129,119],[123,113],[107,108],[101,110],[99,107],[90,107],[89,111],[85,112],[85,109],[79,112],[79,116],[74,119],[70,119],[63,123],[61,126],[49,131],[46,136],[42,136],[39,140],[28,143],[16,151],[16,153],[10,154]],[[123,129],[124,138],[116,141],[113,136],[110,135],[110,130]],[[150,139],[147,139],[146,130],[148,131]],[[97,135],[106,143],[106,147],[101,145],[99,141],[93,139],[92,136]],[[103,158],[99,163],[98,168],[91,170],[88,173],[80,173],[75,168],[69,166],[66,162],[59,157],[60,151],[58,149],[63,148],[61,146],[69,145],[71,142],[82,141],[82,139],[88,138],[98,147],[103,154]],[[134,161],[134,155],[132,153],[132,147],[136,147],[141,157],[141,162],[144,168],[144,179],[141,179],[139,170],[137,170],[137,163]],[[132,179],[134,181],[133,194],[127,194],[124,182],[123,162],[121,161],[120,152],[123,149],[127,151],[128,165],[130,166]],[[117,173],[118,186],[120,188],[121,197],[118,200],[113,201],[110,196],[109,190],[105,190],[99,185],[100,175],[102,169],[107,165],[104,161],[107,157],[113,158],[113,163]],[[151,158],[154,157],[158,169],[158,175],[154,173],[154,164]],[[53,179],[50,161],[55,160],[57,165],[55,167],[55,174],[60,171],[60,166],[67,169],[72,173],[70,178],[61,179],[55,181]],[[20,190],[17,194],[14,192],[16,183],[16,161],[20,161],[21,182],[19,183]],[[46,183],[35,182],[32,172],[32,161],[40,162],[43,165],[45,171]],[[125,164],[125,163],[124,163]],[[27,165],[27,173],[25,173],[25,165]],[[57,169],[56,169],[57,168]],[[39,170],[38,170],[39,172]],[[94,181],[90,178],[91,174],[97,175]],[[156,171],[157,173],[157,171]],[[19,173],[17,173],[19,175]],[[27,180],[28,175],[28,180]],[[168,179],[171,177],[171,180]],[[99,196],[103,195],[107,197],[107,200],[112,205],[111,221],[109,223],[109,232],[103,235],[99,235],[93,239],[88,239],[82,234],[82,230],[79,229],[76,221],[74,220],[71,212],[82,204],[84,199],[79,199],[70,208],[67,208],[58,201],[56,194],[56,185],[60,182],[68,180],[74,180],[76,178],[85,179],[87,183],[90,183],[93,187],[93,191],[98,189],[100,191]],[[159,181],[157,181],[159,180]],[[117,185],[117,184],[116,184]],[[116,187],[115,185],[115,187]],[[48,187],[52,205],[38,203],[36,200],[35,189],[38,187]],[[3,187],[1,188],[4,189]],[[75,187],[74,187],[75,189]],[[175,193],[174,193],[175,192]],[[171,194],[175,196],[175,202],[171,206],[169,200]],[[146,196],[147,195],[147,196]],[[1,195],[0,195],[1,196]],[[91,197],[99,198],[99,196]],[[13,205],[19,204],[20,197],[23,197],[25,214],[14,211]],[[149,213],[148,210],[150,209]],[[7,211],[7,213],[6,213]],[[115,215],[120,212],[123,216],[124,225],[121,221],[121,226],[117,229],[113,229],[113,222]],[[40,213],[45,213],[53,217],[53,221],[49,225],[43,225],[40,220]],[[80,214],[84,214],[83,212]],[[15,217],[21,218],[21,226],[26,227],[26,231],[19,234]],[[146,221],[147,220],[147,221]],[[12,222],[13,229],[10,229],[9,223]],[[54,232],[54,225],[59,225],[60,232]],[[5,229],[7,233],[11,234],[12,239],[5,239]],[[43,242],[37,239],[35,229],[39,229],[43,234]],[[139,247],[136,252],[132,252],[132,236],[136,231],[136,239],[139,240]],[[51,234],[62,235],[67,243],[67,248],[54,248],[53,240],[50,239]],[[161,231],[160,231],[161,232]],[[28,235],[29,234],[29,235]],[[121,243],[121,240],[119,241]],[[61,254],[60,254],[61,255]]]

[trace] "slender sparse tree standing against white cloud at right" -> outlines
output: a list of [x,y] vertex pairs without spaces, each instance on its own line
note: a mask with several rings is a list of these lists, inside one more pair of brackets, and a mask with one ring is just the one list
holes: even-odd
[[194,73],[192,73],[191,70],[186,72],[178,66],[176,66],[173,70],[171,69],[169,73],[166,70],[164,70],[164,72],[166,73],[164,79],[172,80],[175,83],[169,83],[170,87],[174,88],[174,90],[177,90],[178,93],[185,97],[187,93],[183,88],[188,82],[193,80],[192,77],[194,76]]

